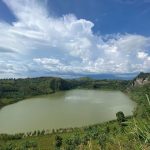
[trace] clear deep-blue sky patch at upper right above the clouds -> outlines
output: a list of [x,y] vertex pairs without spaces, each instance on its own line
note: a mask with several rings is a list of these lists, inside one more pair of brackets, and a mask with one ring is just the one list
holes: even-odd
[[150,2],[144,0],[50,0],[54,15],[73,13],[92,21],[101,34],[133,33],[149,35]]

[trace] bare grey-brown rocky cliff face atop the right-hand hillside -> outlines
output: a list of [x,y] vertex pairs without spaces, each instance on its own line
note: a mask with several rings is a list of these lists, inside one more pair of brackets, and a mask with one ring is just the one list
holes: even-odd
[[150,83],[150,73],[141,72],[132,82],[132,86],[142,86]]

